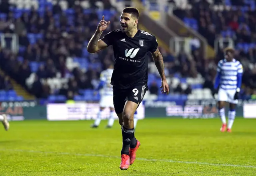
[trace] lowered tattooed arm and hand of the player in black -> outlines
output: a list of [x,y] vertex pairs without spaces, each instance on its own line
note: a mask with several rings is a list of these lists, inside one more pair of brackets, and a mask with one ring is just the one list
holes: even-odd
[[169,85],[168,85],[168,83],[166,81],[166,77],[165,77],[165,74],[164,74],[164,59],[163,59],[163,56],[160,53],[158,47],[157,47],[156,51],[151,52],[151,53],[152,53],[152,56],[153,56],[156,68],[158,69],[158,72],[159,72],[160,77],[162,79],[162,86],[161,86],[161,88],[163,88],[163,89],[161,91],[168,95],[168,93],[169,93]]

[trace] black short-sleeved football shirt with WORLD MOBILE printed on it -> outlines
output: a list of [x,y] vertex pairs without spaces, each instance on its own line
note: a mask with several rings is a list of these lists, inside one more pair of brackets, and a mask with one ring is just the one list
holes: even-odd
[[128,37],[121,29],[106,34],[102,41],[113,45],[114,71],[111,84],[119,89],[148,82],[148,54],[156,51],[156,37],[143,30]]

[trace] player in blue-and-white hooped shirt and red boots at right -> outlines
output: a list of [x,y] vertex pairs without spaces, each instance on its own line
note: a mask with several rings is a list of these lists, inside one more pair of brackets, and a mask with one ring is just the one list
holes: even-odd
[[[231,132],[236,117],[236,104],[238,103],[240,87],[242,84],[243,67],[240,61],[234,59],[234,49],[224,49],[225,59],[218,62],[217,75],[214,83],[214,96],[218,90],[218,108],[222,120],[221,132]],[[229,103],[228,125],[225,117],[225,103]]]

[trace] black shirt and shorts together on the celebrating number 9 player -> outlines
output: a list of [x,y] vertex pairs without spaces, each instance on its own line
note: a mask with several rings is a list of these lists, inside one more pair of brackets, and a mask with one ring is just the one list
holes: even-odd
[[141,103],[148,90],[148,51],[156,51],[158,43],[148,32],[138,30],[131,38],[121,29],[106,34],[102,41],[113,45],[115,63],[111,84],[115,111],[119,114],[127,100]]

